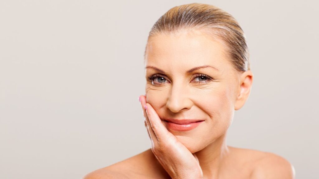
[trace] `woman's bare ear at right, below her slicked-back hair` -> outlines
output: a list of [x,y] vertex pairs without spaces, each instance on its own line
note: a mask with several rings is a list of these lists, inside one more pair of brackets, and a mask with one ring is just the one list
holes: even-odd
[[253,73],[248,70],[241,73],[239,77],[239,88],[235,101],[235,110],[239,110],[249,97],[250,89],[253,84]]

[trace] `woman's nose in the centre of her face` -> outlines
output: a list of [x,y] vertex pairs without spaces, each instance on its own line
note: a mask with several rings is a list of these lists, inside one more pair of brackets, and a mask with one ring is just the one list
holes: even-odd
[[166,107],[174,112],[190,109],[192,101],[189,98],[188,88],[182,84],[173,84],[167,99]]

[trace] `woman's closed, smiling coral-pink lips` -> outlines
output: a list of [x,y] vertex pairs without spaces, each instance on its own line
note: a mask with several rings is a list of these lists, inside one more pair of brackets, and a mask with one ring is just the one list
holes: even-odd
[[166,119],[164,122],[167,127],[175,131],[189,131],[196,128],[204,120],[192,120],[192,119]]

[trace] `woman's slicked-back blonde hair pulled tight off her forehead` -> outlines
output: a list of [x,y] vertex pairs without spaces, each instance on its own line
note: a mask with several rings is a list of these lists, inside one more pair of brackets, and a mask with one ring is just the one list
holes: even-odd
[[[156,34],[174,33],[185,29],[211,30],[212,34],[226,42],[226,51],[234,68],[239,72],[250,69],[248,46],[243,30],[232,15],[213,5],[191,3],[171,8],[152,26],[147,42]],[[147,45],[145,53],[146,50]]]

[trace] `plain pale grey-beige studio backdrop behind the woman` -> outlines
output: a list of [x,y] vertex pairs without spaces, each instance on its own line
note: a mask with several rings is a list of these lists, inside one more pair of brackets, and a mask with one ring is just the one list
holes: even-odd
[[[254,83],[227,145],[272,152],[297,178],[319,167],[318,4],[196,1],[243,28]],[[194,1],[0,1],[0,178],[77,179],[150,148],[148,32]]]

